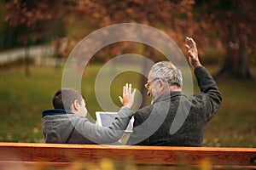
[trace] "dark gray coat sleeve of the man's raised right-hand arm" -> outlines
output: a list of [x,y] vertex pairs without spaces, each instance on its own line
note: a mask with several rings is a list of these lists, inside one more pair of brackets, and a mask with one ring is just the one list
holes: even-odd
[[205,102],[207,121],[210,121],[212,116],[218,111],[222,96],[218,90],[217,83],[213,80],[205,67],[201,66],[196,68],[195,77],[201,89],[201,93],[195,94],[194,97],[201,96],[201,101]]

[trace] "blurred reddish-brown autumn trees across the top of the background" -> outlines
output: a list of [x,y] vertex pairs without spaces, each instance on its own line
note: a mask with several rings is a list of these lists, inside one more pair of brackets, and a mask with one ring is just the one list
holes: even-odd
[[[218,76],[253,78],[248,58],[248,53],[254,53],[256,39],[253,35],[256,3],[253,0],[8,0],[0,4],[5,18],[0,29],[4,30],[2,49],[19,45],[28,48],[60,37],[66,37],[68,42],[79,42],[103,26],[136,22],[165,31],[180,47],[183,47],[184,37],[191,36],[200,49],[224,50]],[[71,45],[68,49],[72,48]],[[122,53],[124,48],[121,43],[114,44],[96,57],[108,60]],[[63,56],[67,57],[68,52]],[[161,59],[146,45],[143,55]]]

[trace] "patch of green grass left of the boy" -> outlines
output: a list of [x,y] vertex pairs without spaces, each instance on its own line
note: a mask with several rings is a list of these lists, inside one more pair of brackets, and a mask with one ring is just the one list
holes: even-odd
[[0,74],[0,140],[40,141],[40,111],[49,108],[53,90],[59,88],[61,71],[32,68],[31,77],[26,77],[21,69],[1,71]]

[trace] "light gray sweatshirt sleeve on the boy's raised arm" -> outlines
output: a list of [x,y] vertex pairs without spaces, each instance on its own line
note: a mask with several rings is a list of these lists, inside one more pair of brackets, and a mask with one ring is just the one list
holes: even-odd
[[90,121],[84,121],[79,119],[76,124],[76,128],[84,135],[86,139],[96,144],[108,144],[118,141],[125,133],[125,129],[128,126],[133,111],[127,107],[122,107],[119,110],[118,116],[114,119],[114,122],[109,127],[101,127]]

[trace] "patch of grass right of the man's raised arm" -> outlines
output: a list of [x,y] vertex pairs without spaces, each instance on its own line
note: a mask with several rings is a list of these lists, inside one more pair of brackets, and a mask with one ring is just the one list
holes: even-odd
[[[212,69],[215,72],[216,69]],[[251,70],[255,75],[255,67]],[[207,126],[205,144],[256,147],[255,82],[217,80],[223,95],[218,114]]]

